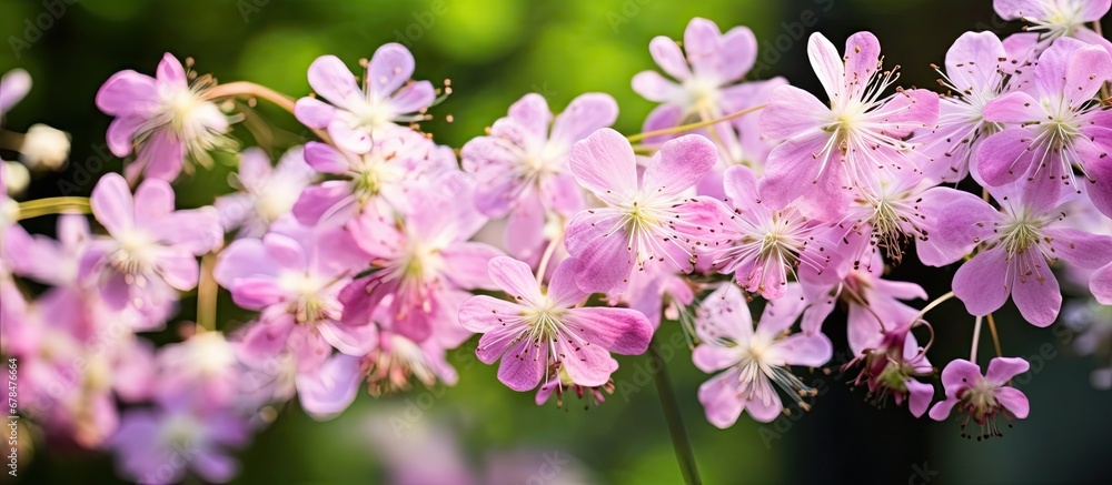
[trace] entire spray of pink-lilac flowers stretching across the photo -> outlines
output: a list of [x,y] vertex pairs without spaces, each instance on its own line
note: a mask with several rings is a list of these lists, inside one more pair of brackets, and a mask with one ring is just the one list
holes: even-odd
[[[844,330],[870,401],[999,436],[997,420],[1027,415],[1010,385],[1027,363],[997,345],[982,376],[982,325],[995,335],[1009,300],[1051,325],[1060,277],[1095,309],[1085,319],[1112,304],[1112,44],[1084,27],[1109,2],[995,7],[1030,29],[963,34],[935,67],[942,93],[900,88],[868,32],[842,50],[811,37],[821,95],[751,80],[753,33],[695,19],[683,47],[649,43],[672,79],[633,78],[661,103],[644,133],[612,129],[604,93],[558,113],[526,94],[460,150],[421,131],[449,83],[413,80],[399,44],[361,77],[317,59],[315,92],[297,101],[166,54],[155,77],[123,71],[97,95],[126,176],[102,176],[88,200],[16,202],[0,183],[0,353],[20,358],[28,417],[113,451],[145,483],[187,468],[230,479],[230,452],[295,397],[322,420],[360,388],[455,384],[448,355],[475,334],[498,381],[563,405],[568,392],[603,403],[614,354],[686,332],[694,365],[717,374],[698,391],[706,417],[728,427],[743,411],[790,413],[784,396],[810,410],[795,367],[826,365],[827,335]],[[30,83],[3,79],[0,115]],[[238,146],[237,111],[254,103],[225,102],[237,97],[287,108],[316,139],[277,165],[248,148],[231,193],[177,208],[171,182]],[[54,239],[18,224],[50,213]],[[953,291],[912,306],[923,287],[886,277],[910,254],[951,271]],[[221,289],[249,321],[218,319]],[[936,402],[926,315],[951,297],[972,351],[950,358]],[[828,322],[837,307],[846,317]],[[145,335],[167,329],[180,342]],[[1105,336],[1086,350],[1109,352]]]

